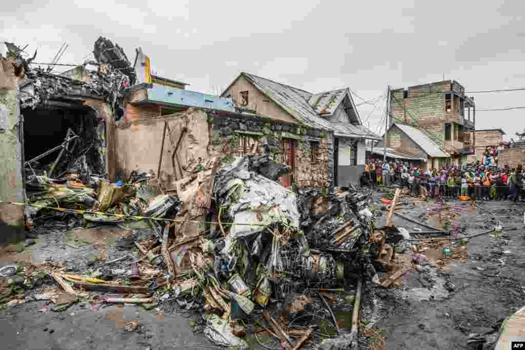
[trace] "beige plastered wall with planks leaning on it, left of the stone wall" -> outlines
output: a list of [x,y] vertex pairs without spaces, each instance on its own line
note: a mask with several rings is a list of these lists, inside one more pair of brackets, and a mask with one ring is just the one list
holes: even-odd
[[133,171],[152,173],[166,188],[174,188],[175,181],[193,175],[211,155],[208,129],[206,112],[195,108],[162,116],[138,114],[117,122],[112,158],[115,179],[127,180]]

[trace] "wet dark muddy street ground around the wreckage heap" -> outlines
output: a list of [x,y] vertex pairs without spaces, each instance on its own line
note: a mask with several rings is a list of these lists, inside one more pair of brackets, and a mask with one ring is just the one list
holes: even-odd
[[[376,203],[382,195],[374,195]],[[435,215],[426,215],[427,209],[434,206],[432,201],[405,199],[405,202],[409,204],[402,207],[402,214],[430,226],[443,224]],[[447,213],[456,213],[452,221],[464,229],[463,235],[492,228],[490,216],[485,211],[459,201],[446,204],[451,209],[445,210]],[[525,206],[501,201],[480,205],[502,222],[506,231],[499,237],[487,234],[471,238],[465,247],[451,247],[451,257],[443,256],[444,242],[421,245],[428,262],[419,267],[410,263],[409,254],[397,253],[398,268],[408,270],[398,280],[399,284],[384,289],[365,285],[361,349],[466,349],[469,334],[486,333],[499,327],[502,319],[523,306],[525,257],[521,249],[525,246]],[[376,210],[380,211],[379,204]],[[382,211],[376,220],[378,227],[384,225],[385,216]],[[394,224],[408,231],[417,227],[397,216],[394,216]],[[63,263],[68,271],[81,273],[128,253],[138,258],[136,248],[118,249],[121,238],[152,237],[149,231],[133,233],[114,226],[94,229],[50,226],[41,227],[33,235],[25,245],[20,242],[2,249],[0,266],[13,261],[36,265]],[[380,278],[386,275],[380,273]],[[20,293],[38,294],[50,285],[56,286],[56,283],[43,280],[41,285]],[[350,328],[349,301],[354,289],[350,285],[332,305],[341,328]],[[186,349],[212,346],[202,333],[195,332],[202,324],[198,310],[181,312],[180,305],[173,301],[165,301],[152,310],[134,305],[103,305],[94,309],[89,303],[78,303],[56,312],[47,304],[47,301],[28,301],[4,307],[0,311],[2,348]],[[141,326],[133,332],[125,331],[123,325],[132,320],[139,321]],[[251,338],[248,342],[251,348],[263,348]]]

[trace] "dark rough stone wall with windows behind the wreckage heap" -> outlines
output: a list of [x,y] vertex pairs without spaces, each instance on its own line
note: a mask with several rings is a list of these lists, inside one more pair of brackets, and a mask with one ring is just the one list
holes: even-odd
[[[282,138],[295,140],[295,182],[298,188],[326,188],[333,181],[333,134],[326,131],[307,129],[289,123],[276,123],[268,119],[236,114],[208,114],[208,122],[213,124],[211,145],[213,152],[222,154],[223,161],[243,151],[239,149],[239,137],[260,140],[266,139],[274,160],[283,162],[279,147]],[[311,141],[319,142],[318,157],[311,159]],[[262,146],[257,153],[263,152]]]

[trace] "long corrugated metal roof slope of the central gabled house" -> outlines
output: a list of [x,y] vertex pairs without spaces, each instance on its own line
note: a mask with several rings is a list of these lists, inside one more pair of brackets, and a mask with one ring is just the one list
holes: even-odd
[[254,76],[243,72],[243,75],[262,93],[266,94],[275,103],[280,105],[298,121],[312,128],[333,130],[330,121],[321,118],[308,103],[312,95],[308,91],[300,90],[269,79]]

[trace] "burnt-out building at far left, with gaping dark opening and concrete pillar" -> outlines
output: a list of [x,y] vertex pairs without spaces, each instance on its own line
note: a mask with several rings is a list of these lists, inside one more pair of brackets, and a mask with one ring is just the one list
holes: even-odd
[[[59,178],[78,169],[85,177],[105,176],[106,124],[122,114],[121,93],[135,80],[123,50],[99,38],[93,50],[96,61],[57,75],[33,68],[34,57],[24,59],[16,45],[6,46],[7,55],[0,58],[2,171],[9,178],[2,185],[4,200],[25,201],[28,174]],[[0,219],[23,226],[23,214],[23,207],[2,204]]]

